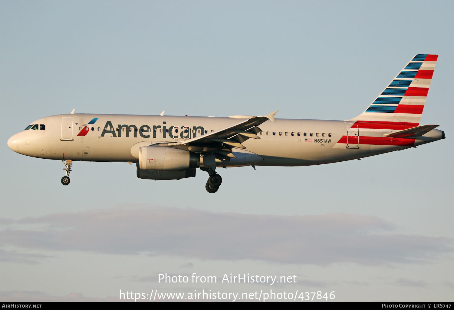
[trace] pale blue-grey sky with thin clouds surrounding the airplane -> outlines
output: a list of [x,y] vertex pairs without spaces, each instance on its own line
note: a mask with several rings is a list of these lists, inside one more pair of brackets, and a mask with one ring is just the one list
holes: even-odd
[[[450,1],[2,1],[0,301],[202,290],[225,301],[255,292],[263,301],[270,290],[295,301],[334,292],[311,302],[452,301],[453,9]],[[336,164],[222,169],[216,194],[202,171],[152,181],[126,163],[74,163],[63,186],[62,163],[6,145],[34,120],[74,108],[350,119],[415,54],[439,54],[421,125],[440,125],[447,139]],[[166,273],[189,280],[158,281]],[[193,274],[217,282],[194,283]],[[268,280],[222,281],[230,274]]]

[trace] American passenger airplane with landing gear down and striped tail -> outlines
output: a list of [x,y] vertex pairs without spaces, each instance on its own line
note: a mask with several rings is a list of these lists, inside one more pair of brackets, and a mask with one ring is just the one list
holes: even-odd
[[15,152],[62,160],[69,184],[74,161],[135,163],[140,179],[208,173],[205,189],[222,183],[217,168],[306,166],[356,160],[444,139],[439,125],[419,121],[438,55],[418,54],[359,116],[345,121],[266,116],[69,114],[33,121],[8,140]]

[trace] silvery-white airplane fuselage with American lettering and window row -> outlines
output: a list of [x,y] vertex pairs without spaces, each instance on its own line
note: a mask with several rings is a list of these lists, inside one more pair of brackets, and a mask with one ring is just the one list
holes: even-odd
[[[98,119],[89,124],[94,118]],[[241,119],[231,117],[63,114],[34,121],[32,124],[42,124],[45,129],[38,126],[38,130],[21,131],[8,140],[8,146],[23,155],[53,160],[138,162],[133,153],[134,145],[140,142],[143,143],[139,145],[152,145],[183,141],[238,121]],[[113,128],[106,128],[108,122]],[[355,121],[275,119],[259,126],[260,140],[248,139],[242,144],[248,152],[263,158],[255,165],[303,166],[358,159],[444,138],[443,131],[433,129],[414,141],[402,143],[401,140],[410,139],[383,140],[384,134],[392,132],[390,129],[359,128],[348,133],[354,124]],[[89,130],[81,135],[85,126]],[[375,138],[385,142],[371,142]],[[238,164],[217,160],[217,166]]]

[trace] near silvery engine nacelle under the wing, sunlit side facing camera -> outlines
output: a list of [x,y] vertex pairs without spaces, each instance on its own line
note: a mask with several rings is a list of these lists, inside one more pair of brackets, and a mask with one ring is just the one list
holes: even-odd
[[200,155],[168,146],[142,146],[139,149],[139,169],[178,171],[198,168]]

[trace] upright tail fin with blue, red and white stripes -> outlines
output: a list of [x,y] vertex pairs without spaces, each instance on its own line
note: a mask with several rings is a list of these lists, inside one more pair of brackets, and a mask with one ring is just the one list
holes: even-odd
[[416,55],[366,111],[349,121],[418,126],[438,55]]

